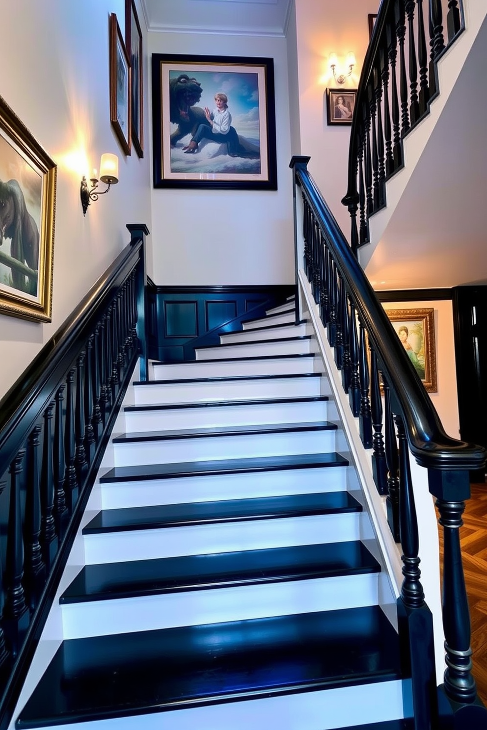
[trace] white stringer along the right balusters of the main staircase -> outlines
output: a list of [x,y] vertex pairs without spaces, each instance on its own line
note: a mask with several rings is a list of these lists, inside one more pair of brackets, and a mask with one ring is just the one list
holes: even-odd
[[[329,420],[340,423],[343,442],[337,442],[337,451],[348,458],[348,491],[364,508],[361,518],[361,540],[382,566],[380,581],[380,606],[389,621],[397,628],[396,599],[402,585],[401,546],[396,545],[389,529],[386,513],[386,497],[380,496],[372,477],[372,450],[364,449],[358,428],[358,418],[350,410],[348,395],[342,388],[340,371],[334,362],[334,353],[326,337],[318,306],[312,297],[310,283],[304,270],[299,270],[299,311],[308,321],[312,335],[315,359],[323,361],[328,375],[331,395],[337,412],[330,412]],[[428,489],[426,469],[410,458],[415,506],[418,515],[419,555],[421,558],[421,583],[426,603],[433,615],[434,655],[437,684],[443,681],[445,670],[445,636],[442,627],[440,593],[440,548],[434,501]]]

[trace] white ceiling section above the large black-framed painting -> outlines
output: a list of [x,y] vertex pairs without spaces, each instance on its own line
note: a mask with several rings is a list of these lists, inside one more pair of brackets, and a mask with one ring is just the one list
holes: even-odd
[[150,31],[283,36],[292,0],[141,0]]

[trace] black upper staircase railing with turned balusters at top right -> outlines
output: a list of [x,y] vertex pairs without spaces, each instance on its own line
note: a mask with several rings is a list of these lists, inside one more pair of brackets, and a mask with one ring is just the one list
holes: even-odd
[[404,164],[402,140],[440,92],[437,62],[463,29],[457,0],[380,4],[358,84],[342,199],[355,252],[369,242],[370,216],[386,205],[386,181]]

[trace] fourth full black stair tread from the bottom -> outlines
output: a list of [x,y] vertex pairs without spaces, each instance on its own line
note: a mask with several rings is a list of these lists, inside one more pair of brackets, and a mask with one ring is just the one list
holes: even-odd
[[220,459],[218,461],[187,461],[179,464],[142,464],[114,466],[100,477],[100,483],[170,479],[171,477],[217,476],[253,472],[276,472],[280,469],[310,469],[314,467],[348,466],[348,460],[338,453],[292,454],[291,456],[257,456],[254,458]]

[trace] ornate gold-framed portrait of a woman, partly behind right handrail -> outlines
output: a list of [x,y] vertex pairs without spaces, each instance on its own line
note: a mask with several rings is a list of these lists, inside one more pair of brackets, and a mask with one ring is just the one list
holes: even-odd
[[434,310],[386,310],[426,391],[437,393]]

